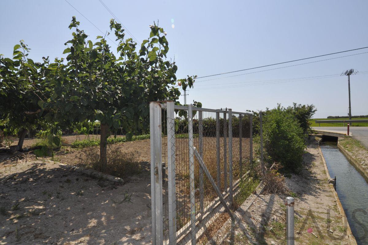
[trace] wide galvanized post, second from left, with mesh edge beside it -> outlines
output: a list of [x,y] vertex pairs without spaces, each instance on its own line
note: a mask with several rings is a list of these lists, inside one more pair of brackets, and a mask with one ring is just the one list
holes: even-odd
[[169,244],[176,245],[176,185],[175,185],[175,111],[174,101],[167,101],[167,177],[169,186]]

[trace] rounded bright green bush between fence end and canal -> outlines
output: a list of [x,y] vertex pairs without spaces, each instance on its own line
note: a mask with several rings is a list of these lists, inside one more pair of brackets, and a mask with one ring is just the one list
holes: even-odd
[[304,133],[293,114],[280,106],[263,117],[263,144],[272,161],[298,172],[305,149]]

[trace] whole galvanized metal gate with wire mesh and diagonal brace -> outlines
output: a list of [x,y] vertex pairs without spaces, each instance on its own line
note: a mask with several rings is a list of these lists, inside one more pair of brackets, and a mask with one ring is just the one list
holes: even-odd
[[252,114],[150,103],[152,243],[196,244],[252,169]]

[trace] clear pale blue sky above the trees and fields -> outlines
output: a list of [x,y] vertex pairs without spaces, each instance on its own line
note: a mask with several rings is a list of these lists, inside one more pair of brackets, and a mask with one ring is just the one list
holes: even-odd
[[[112,15],[99,0],[68,1],[100,30],[109,30]],[[102,1],[139,42],[148,37],[148,26],[159,20],[167,32],[168,57],[178,65],[178,78],[368,46],[365,0]],[[101,35],[65,0],[1,0],[0,54],[10,57],[13,46],[24,39],[32,49],[29,56],[35,61],[42,56],[62,57],[64,43],[71,39],[68,25],[72,15],[91,40]],[[197,79],[194,89],[188,91],[187,101],[201,101],[206,108],[227,107],[236,111],[264,110],[277,103],[289,106],[297,102],[314,104],[318,109],[316,118],[347,115],[347,77],[338,75],[354,68],[360,74],[351,76],[352,114],[368,114],[368,54],[221,78],[363,52],[368,49],[208,78],[216,80]],[[303,79],[294,79],[300,77]]]

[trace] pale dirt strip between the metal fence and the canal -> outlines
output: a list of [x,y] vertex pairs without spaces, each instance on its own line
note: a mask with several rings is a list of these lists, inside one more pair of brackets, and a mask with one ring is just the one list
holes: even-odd
[[346,225],[327,183],[325,168],[316,141],[310,141],[301,175],[286,178],[286,194],[262,193],[254,203],[237,211],[210,244],[286,244],[287,196],[295,197],[295,244],[347,245]]

